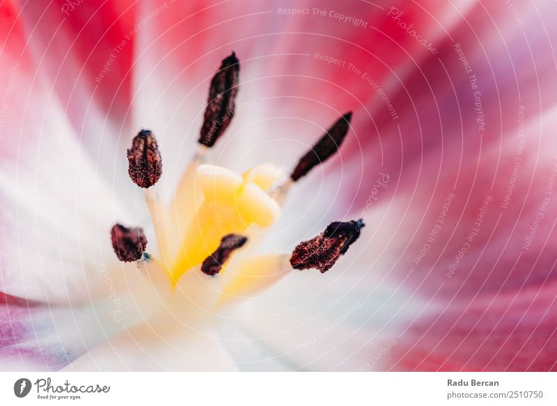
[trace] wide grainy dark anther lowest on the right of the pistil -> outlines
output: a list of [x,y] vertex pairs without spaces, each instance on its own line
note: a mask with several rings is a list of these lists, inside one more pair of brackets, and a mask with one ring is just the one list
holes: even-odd
[[329,224],[317,237],[298,244],[290,258],[290,265],[297,270],[315,268],[322,274],[327,272],[358,239],[364,226],[362,219]]

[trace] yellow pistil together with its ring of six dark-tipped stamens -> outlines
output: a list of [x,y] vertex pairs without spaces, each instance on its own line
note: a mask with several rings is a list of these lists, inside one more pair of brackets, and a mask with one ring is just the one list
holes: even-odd
[[[239,72],[240,61],[233,53],[214,75],[200,148],[182,174],[169,205],[151,189],[163,178],[155,134],[141,130],[127,150],[128,173],[137,186],[145,189],[157,247],[148,249],[141,226],[115,224],[111,229],[113,249],[120,260],[137,261],[146,277],[152,278],[157,288],[169,290],[166,294],[171,297],[187,297],[191,286],[201,287],[218,292],[219,300],[212,303],[217,305],[230,297],[267,288],[293,269],[326,272],[357,240],[364,226],[361,219],[336,221],[313,240],[298,244],[290,255],[256,255],[265,231],[281,217],[290,187],[336,153],[350,130],[352,113],[338,118],[299,159],[290,175],[272,163],[258,164],[244,173],[206,163],[210,148],[235,114]],[[244,253],[233,261],[237,250]],[[205,281],[209,287],[203,287],[194,280],[200,277],[219,282]],[[214,297],[214,292],[207,292],[207,297]]]

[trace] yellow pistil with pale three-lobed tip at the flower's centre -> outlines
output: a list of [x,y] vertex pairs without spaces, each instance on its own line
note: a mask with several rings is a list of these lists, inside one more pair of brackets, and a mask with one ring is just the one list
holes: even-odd
[[220,166],[198,166],[196,183],[204,200],[181,236],[170,268],[174,285],[182,274],[203,263],[224,235],[245,234],[252,224],[267,228],[278,220],[281,208],[267,189],[281,175],[272,164],[258,165],[243,175]]

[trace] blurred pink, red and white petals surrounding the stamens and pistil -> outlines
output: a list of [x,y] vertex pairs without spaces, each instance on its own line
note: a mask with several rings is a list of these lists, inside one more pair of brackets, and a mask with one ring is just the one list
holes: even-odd
[[[0,369],[556,369],[556,13],[532,0],[3,1]],[[169,201],[231,52],[237,109],[212,164],[288,171],[354,112],[260,252],[291,253],[331,221],[366,228],[325,274],[292,270],[203,328],[154,329],[160,298],[110,243],[122,221],[156,246],[125,152],[141,128],[156,134]]]

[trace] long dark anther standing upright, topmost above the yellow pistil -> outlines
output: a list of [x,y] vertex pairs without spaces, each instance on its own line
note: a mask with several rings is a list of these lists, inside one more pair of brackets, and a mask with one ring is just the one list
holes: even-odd
[[201,136],[198,140],[201,145],[214,146],[219,136],[230,124],[236,108],[239,74],[240,61],[233,52],[228,58],[223,59],[219,72],[211,81],[205,120],[203,120]]

